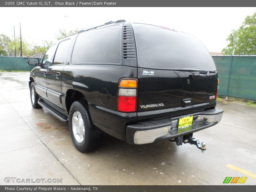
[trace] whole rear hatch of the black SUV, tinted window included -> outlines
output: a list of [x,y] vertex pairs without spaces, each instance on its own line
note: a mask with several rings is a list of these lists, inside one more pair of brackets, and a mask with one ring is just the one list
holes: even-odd
[[215,102],[217,69],[194,36],[159,26],[133,23],[139,95],[138,112]]

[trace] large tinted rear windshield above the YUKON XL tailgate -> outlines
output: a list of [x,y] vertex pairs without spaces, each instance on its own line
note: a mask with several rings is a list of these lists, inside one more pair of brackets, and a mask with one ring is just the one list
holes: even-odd
[[138,67],[216,70],[212,56],[195,37],[153,25],[132,24]]

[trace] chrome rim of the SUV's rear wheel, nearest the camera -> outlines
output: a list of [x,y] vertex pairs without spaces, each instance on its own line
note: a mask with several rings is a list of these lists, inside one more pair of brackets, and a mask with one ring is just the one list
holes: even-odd
[[72,117],[72,130],[77,142],[84,140],[84,120],[80,112],[75,111]]

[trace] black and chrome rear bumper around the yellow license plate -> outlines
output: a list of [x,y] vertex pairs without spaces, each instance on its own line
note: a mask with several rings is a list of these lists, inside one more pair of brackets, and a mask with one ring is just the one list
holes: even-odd
[[[143,121],[126,127],[126,140],[130,144],[146,144],[156,140],[174,139],[218,124],[222,115],[222,109],[214,108],[182,116]],[[192,126],[177,129],[179,118],[185,116],[194,116]]]

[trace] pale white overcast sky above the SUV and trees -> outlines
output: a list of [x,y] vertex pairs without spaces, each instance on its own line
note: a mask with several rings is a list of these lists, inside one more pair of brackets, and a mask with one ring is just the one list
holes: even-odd
[[0,7],[0,34],[20,36],[29,44],[56,41],[60,29],[87,29],[125,19],[173,28],[197,37],[209,52],[221,52],[232,30],[255,7]]

